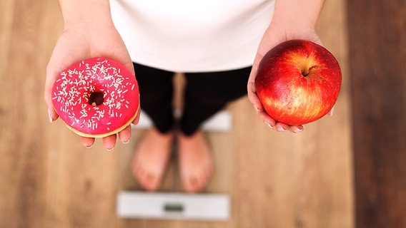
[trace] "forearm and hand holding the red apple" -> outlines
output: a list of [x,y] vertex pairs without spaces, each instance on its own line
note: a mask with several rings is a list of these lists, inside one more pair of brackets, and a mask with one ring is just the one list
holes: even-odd
[[274,46],[291,39],[301,38],[320,44],[320,38],[315,32],[315,26],[323,3],[323,0],[277,0],[272,21],[259,43],[257,56],[254,59],[248,80],[248,98],[254,105],[255,110],[257,110],[259,118],[270,128],[274,128],[277,131],[290,130],[294,133],[299,133],[303,130],[303,126],[289,126],[279,123],[267,115],[259,101],[254,86],[259,61]]

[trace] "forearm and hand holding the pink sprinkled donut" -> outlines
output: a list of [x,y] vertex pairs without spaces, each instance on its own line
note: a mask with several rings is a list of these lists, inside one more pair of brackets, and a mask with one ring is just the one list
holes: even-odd
[[[49,110],[50,122],[58,118],[51,100],[55,78],[65,68],[86,58],[103,56],[112,58],[134,73],[134,67],[121,36],[114,28],[108,0],[59,0],[64,18],[64,32],[59,36],[46,67],[44,99]],[[139,117],[134,120],[138,122]],[[131,128],[119,133],[122,142],[128,142]],[[104,147],[112,150],[117,135],[103,138]],[[94,138],[81,138],[86,147],[91,147]]]

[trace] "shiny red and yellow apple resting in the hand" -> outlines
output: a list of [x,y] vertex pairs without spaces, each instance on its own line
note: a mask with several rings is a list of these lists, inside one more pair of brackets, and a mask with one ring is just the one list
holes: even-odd
[[340,93],[340,65],[326,48],[306,40],[280,43],[260,61],[255,88],[267,114],[303,125],[330,112]]

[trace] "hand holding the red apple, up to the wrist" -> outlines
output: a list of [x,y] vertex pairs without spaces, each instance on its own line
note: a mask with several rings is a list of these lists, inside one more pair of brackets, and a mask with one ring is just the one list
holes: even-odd
[[[272,117],[270,117],[264,110],[262,103],[260,102],[256,89],[255,89],[255,77],[257,76],[257,68],[259,61],[262,60],[264,55],[272,49],[274,46],[277,46],[279,43],[292,39],[305,39],[310,40],[321,45],[320,38],[317,36],[313,28],[304,28],[304,29],[290,29],[288,30],[286,26],[278,26],[275,24],[270,24],[267,31],[265,31],[262,41],[259,43],[259,48],[257,51],[257,56],[254,59],[252,66],[252,71],[249,75],[247,90],[249,101],[254,105],[255,110],[259,118],[269,126],[279,132],[291,131],[293,133],[302,132],[304,129],[302,125],[287,125],[285,123],[277,122]],[[332,114],[332,110],[330,111]]]

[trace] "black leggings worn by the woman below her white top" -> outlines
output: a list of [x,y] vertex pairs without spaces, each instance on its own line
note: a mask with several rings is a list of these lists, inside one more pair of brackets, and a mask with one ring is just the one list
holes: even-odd
[[[174,128],[172,108],[174,72],[134,63],[139,83],[141,107],[161,133]],[[227,103],[247,95],[251,67],[234,71],[184,73],[184,110],[179,130],[192,135],[212,115]]]

